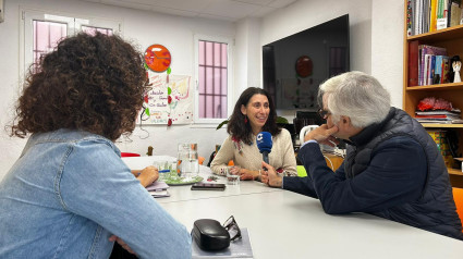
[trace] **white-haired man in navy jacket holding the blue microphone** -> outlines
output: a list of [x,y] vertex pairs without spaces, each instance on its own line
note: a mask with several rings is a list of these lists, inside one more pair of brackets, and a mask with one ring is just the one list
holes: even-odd
[[[283,177],[263,162],[263,182],[318,198],[326,213],[367,212],[463,239],[447,168],[426,130],[390,107],[390,95],[370,75],[348,72],[318,92],[326,124],[307,133],[298,158],[306,177]],[[348,144],[333,173],[319,144]]]

